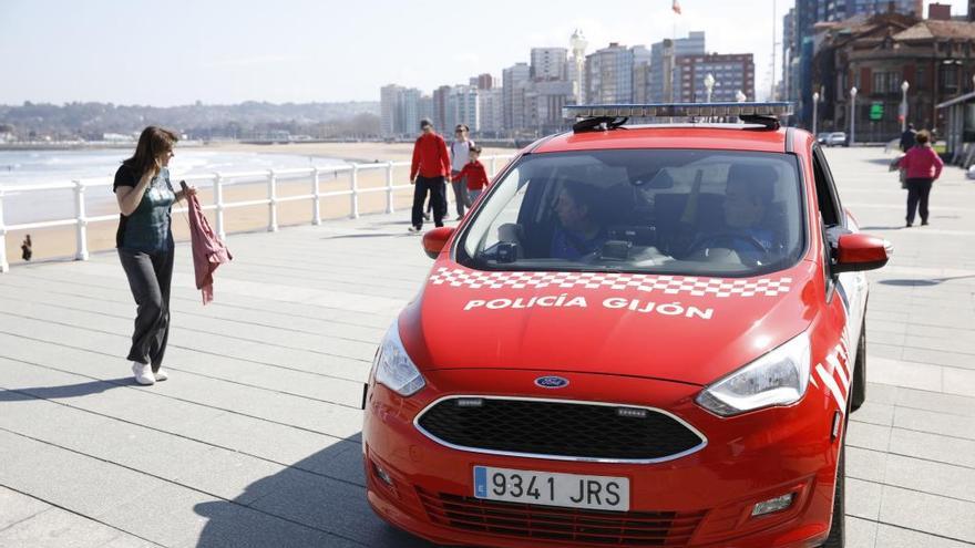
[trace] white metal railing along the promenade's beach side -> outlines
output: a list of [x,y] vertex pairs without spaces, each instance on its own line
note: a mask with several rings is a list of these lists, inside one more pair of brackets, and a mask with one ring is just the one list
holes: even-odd
[[[497,174],[499,167],[503,167],[499,165],[499,161],[507,162],[513,158],[514,155],[497,155],[497,156],[485,156],[482,158],[483,162],[488,164],[488,172],[491,177]],[[217,172],[213,174],[202,174],[202,175],[189,175],[184,177],[183,179],[187,183],[192,182],[209,182],[213,185],[213,197],[214,203],[212,205],[203,206],[204,210],[213,210],[214,211],[214,220],[215,226],[214,229],[219,235],[222,239],[226,239],[227,232],[225,229],[224,217],[228,209],[234,209],[238,207],[248,207],[248,206],[259,206],[267,205],[268,206],[268,220],[267,220],[267,229],[268,231],[277,231],[278,229],[278,204],[284,204],[288,201],[299,201],[299,200],[311,200],[311,224],[312,225],[321,225],[321,200],[326,198],[333,198],[339,196],[348,196],[349,197],[349,216],[353,219],[359,218],[359,197],[363,194],[373,194],[373,193],[386,193],[386,213],[391,214],[394,213],[393,208],[393,194],[397,190],[402,190],[406,188],[410,188],[411,185],[394,185],[393,180],[393,169],[397,167],[409,167],[409,162],[387,162],[384,164],[347,164],[340,166],[321,166],[321,167],[298,167],[298,168],[289,168],[289,169],[269,169],[269,170],[259,170],[259,172],[235,172],[235,173],[224,173]],[[376,170],[376,169],[384,169],[386,170],[386,185],[384,186],[376,186],[376,187],[359,187],[359,174],[367,170]],[[339,174],[348,173],[349,174],[349,188],[347,190],[331,190],[331,192],[321,192],[321,175],[322,174],[333,174],[335,177],[338,177]],[[278,183],[281,179],[295,179],[300,177],[311,177],[311,192],[310,194],[302,194],[298,196],[287,196],[287,197],[278,197],[277,188]],[[224,188],[232,185],[237,184],[248,184],[254,183],[255,178],[265,178],[267,180],[267,197],[254,200],[239,200],[239,201],[224,201]],[[7,260],[7,232],[12,230],[33,230],[38,228],[54,228],[54,227],[63,227],[63,226],[74,226],[75,227],[75,239],[76,239],[76,252],[74,254],[74,258],[76,260],[88,260],[89,258],[89,249],[88,249],[88,226],[92,223],[106,223],[111,220],[116,220],[119,218],[117,214],[112,215],[101,215],[95,217],[89,217],[85,211],[85,203],[84,195],[85,189],[91,187],[110,187],[112,185],[111,180],[107,178],[99,178],[99,179],[75,179],[71,182],[64,183],[50,183],[42,185],[0,185],[0,272],[7,272],[10,270],[10,265]],[[4,193],[33,193],[33,192],[48,192],[48,190],[74,190],[74,218],[70,219],[58,219],[58,220],[45,220],[39,223],[23,223],[20,225],[4,225],[3,223],[3,195]],[[174,209],[176,213],[186,211],[185,207]]]

